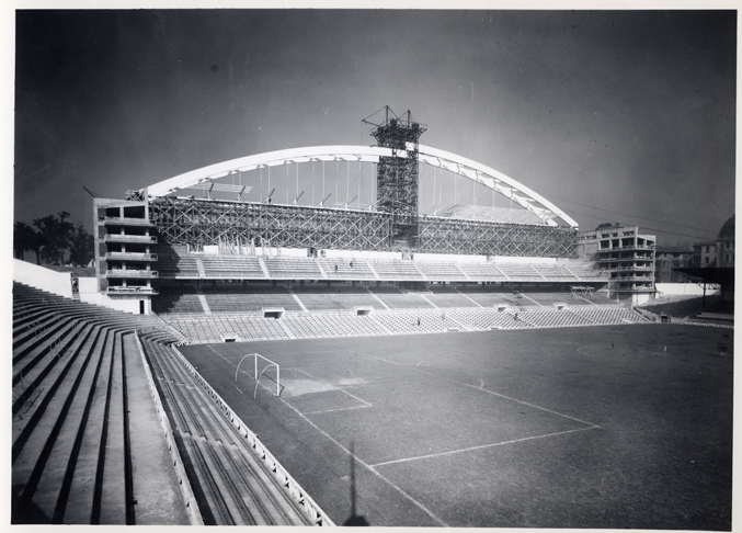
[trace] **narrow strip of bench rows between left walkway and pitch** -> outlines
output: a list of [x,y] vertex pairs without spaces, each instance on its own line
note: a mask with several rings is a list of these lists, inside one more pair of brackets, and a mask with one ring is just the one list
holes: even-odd
[[312,525],[326,520],[174,350],[148,341],[142,345],[205,524]]

